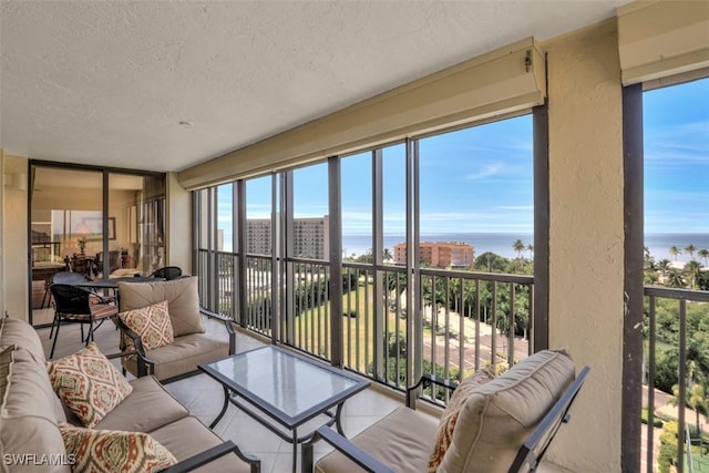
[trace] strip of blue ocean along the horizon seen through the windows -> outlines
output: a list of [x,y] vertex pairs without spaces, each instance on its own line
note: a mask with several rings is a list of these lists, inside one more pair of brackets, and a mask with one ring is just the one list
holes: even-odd
[[[429,234],[421,235],[421,241],[460,241],[473,245],[475,256],[483,253],[492,251],[506,258],[514,258],[517,251],[512,248],[512,244],[521,239],[525,245],[534,243],[534,235],[531,233],[510,234],[510,233],[469,233],[469,234]],[[342,253],[349,255],[363,255],[372,247],[370,235],[343,235]],[[384,235],[384,247],[393,254],[394,245],[404,243],[403,235]],[[703,234],[646,234],[645,246],[648,247],[653,257],[657,260],[669,259],[675,257],[669,254],[669,248],[676,246],[682,253],[677,256],[677,261],[689,261],[690,256],[685,251],[685,247],[689,244],[695,245],[697,249],[709,249],[709,233]],[[530,257],[530,253],[524,254]],[[703,259],[695,253],[695,259],[706,265]]]

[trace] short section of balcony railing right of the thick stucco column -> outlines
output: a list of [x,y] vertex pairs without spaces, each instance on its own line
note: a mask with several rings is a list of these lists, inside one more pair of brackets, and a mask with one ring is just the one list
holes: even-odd
[[670,471],[670,465],[678,472],[709,471],[702,452],[709,413],[709,292],[646,286],[645,296],[643,462],[648,473]]

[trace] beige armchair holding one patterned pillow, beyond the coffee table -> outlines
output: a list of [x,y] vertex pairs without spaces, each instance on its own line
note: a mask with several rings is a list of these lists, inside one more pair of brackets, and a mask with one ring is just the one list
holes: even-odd
[[[137,352],[122,359],[123,369],[135,377],[153,374],[160,381],[172,381],[197,372],[197,364],[235,352],[232,320],[201,308],[196,276],[121,281],[119,311],[121,349]],[[204,317],[220,321],[224,332],[207,333]]]

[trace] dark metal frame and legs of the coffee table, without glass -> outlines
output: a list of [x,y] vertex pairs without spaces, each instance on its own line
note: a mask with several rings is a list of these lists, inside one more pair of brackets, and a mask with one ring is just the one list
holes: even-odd
[[[277,405],[274,405],[273,403],[268,402],[267,400],[260,398],[259,395],[257,395],[256,393],[247,389],[245,385],[240,384],[238,380],[233,379],[233,377],[226,376],[225,373],[220,372],[219,370],[213,367],[217,364],[219,361],[224,361],[229,358],[245,357],[247,356],[247,353],[255,352],[257,350],[275,350],[280,354],[292,357],[296,360],[300,360],[306,363],[309,363],[310,366],[315,367],[321,372],[330,373],[332,377],[340,377],[340,378],[347,379],[348,381],[352,381],[353,384],[351,384],[347,389],[341,390],[340,392],[332,394],[331,397],[325,399],[323,401],[317,404],[312,404],[309,408],[304,409],[302,411],[298,412],[295,415],[290,415],[284,412],[284,410],[279,409]],[[222,360],[217,360],[210,363],[199,364],[198,368],[202,371],[204,371],[206,374],[208,374],[209,377],[218,381],[224,388],[224,405],[222,407],[222,411],[216,417],[216,419],[212,422],[209,428],[214,428],[222,420],[229,403],[236,405],[242,411],[246,412],[249,417],[251,417],[254,420],[259,422],[261,425],[264,425],[265,428],[267,428],[268,430],[277,434],[280,439],[292,444],[294,472],[296,471],[296,465],[297,465],[298,445],[302,442],[308,441],[310,438],[312,438],[312,434],[315,433],[315,429],[314,429],[312,432],[302,436],[298,436],[298,428],[304,423],[308,422],[309,420],[323,414],[329,418],[329,420],[325,423],[325,425],[335,424],[337,428],[337,431],[341,435],[345,435],[345,432],[342,432],[342,424],[340,421],[340,417],[342,413],[342,405],[345,404],[345,401],[351,398],[352,395],[357,394],[358,392],[367,389],[370,385],[370,381],[366,379],[356,377],[341,369],[330,367],[320,361],[316,361],[302,354],[296,353],[290,350],[285,350],[282,348],[279,348],[273,345],[266,346],[266,347],[259,347],[248,351],[243,351],[236,354],[232,354]],[[277,376],[279,373],[277,373],[276,371],[271,371],[271,374]],[[317,385],[309,385],[307,388],[311,390],[318,389]],[[297,394],[294,393],[294,395],[297,395]],[[243,402],[239,398],[244,399],[248,404]],[[259,415],[258,412],[251,409],[251,405],[256,408],[258,411],[266,414],[268,418],[276,421],[278,424],[291,431],[291,434],[288,435],[277,425],[274,425],[273,423],[268,422],[268,420],[264,418],[264,415]],[[335,413],[331,412],[332,408],[336,408]]]

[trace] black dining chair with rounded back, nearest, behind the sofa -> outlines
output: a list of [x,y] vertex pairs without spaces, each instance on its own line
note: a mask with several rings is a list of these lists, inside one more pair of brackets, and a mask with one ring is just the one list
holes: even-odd
[[[56,328],[56,332],[54,333],[52,351],[49,358],[54,357],[54,348],[56,347],[59,329],[62,323],[81,323],[81,340],[89,345],[93,340],[93,332],[106,319],[119,313],[119,308],[115,304],[109,304],[107,299],[82,287],[70,284],[53,284],[50,286],[50,290],[54,297],[52,331]],[[89,326],[89,332],[85,338],[84,325]]]

